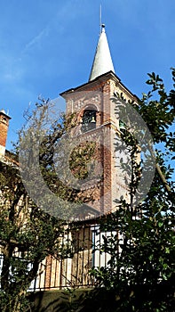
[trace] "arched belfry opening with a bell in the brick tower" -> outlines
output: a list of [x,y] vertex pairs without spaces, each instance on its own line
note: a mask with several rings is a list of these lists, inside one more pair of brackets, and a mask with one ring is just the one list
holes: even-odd
[[82,132],[90,131],[96,128],[96,112],[94,110],[84,110],[82,118]]

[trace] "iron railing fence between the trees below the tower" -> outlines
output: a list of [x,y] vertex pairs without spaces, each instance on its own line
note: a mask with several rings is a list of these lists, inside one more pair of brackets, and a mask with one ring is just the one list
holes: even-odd
[[[62,256],[48,256],[40,263],[36,279],[28,291],[47,291],[66,287],[91,287],[96,281],[90,275],[92,267],[107,267],[110,256],[101,252],[104,237],[116,231],[99,231],[98,223],[70,224],[60,237]],[[96,249],[98,245],[98,249]],[[15,254],[15,258],[21,257]],[[0,271],[3,255],[0,254]],[[28,268],[31,268],[28,263]],[[0,272],[1,273],[1,272]]]

